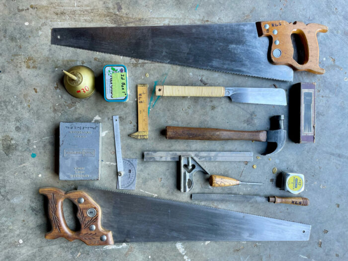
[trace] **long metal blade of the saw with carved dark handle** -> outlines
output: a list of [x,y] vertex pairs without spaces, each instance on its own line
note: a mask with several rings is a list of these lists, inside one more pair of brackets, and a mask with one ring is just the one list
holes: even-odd
[[306,241],[311,226],[177,201],[79,187],[114,242]]

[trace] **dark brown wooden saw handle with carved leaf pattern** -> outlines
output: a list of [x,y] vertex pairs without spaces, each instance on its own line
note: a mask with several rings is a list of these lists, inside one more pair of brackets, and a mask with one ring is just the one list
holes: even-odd
[[[46,239],[66,238],[69,241],[79,239],[89,246],[112,245],[112,233],[101,227],[101,209],[85,192],[73,190],[65,192],[55,187],[44,187],[39,193],[48,198],[48,217],[52,230],[46,233]],[[64,199],[70,199],[78,207],[80,231],[72,231],[65,221],[63,213]]]

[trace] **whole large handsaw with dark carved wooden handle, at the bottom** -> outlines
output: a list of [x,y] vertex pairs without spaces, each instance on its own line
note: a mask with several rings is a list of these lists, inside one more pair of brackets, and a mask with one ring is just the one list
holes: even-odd
[[[46,187],[52,230],[46,239],[80,239],[87,245],[167,241],[306,241],[311,226],[241,212],[79,187]],[[78,207],[80,231],[67,226],[64,199]]]

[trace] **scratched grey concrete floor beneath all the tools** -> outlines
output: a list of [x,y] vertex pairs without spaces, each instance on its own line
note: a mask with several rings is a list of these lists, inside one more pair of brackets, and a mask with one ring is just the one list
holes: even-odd
[[[338,1],[24,1],[0,3],[0,260],[347,260],[347,6]],[[291,83],[158,64],[137,59],[75,50],[50,44],[53,27],[175,25],[262,20],[301,20],[329,27],[320,33],[320,66],[324,75],[294,74],[293,83],[316,82],[316,143],[294,144],[271,157],[260,156],[265,144],[248,141],[208,142],[166,140],[166,125],[262,130],[271,115],[285,106],[233,104],[227,98],[161,98],[149,116],[149,140],[135,140],[136,85],[220,85],[277,87]],[[208,48],[214,48],[213,46]],[[229,59],[229,57],[226,57]],[[129,70],[130,99],[107,103],[100,91],[87,99],[72,97],[62,84],[61,68],[76,65],[100,75],[106,64]],[[145,77],[146,74],[149,77]],[[120,116],[122,153],[138,158],[135,193],[189,202],[176,189],[175,162],[144,162],[143,151],[253,151],[254,162],[204,162],[211,172],[264,185],[224,188],[219,192],[282,195],[272,169],[305,174],[308,207],[234,202],[202,203],[230,210],[312,225],[308,242],[170,242],[88,247],[81,241],[46,240],[44,197],[38,189],[66,191],[77,185],[116,188],[112,115]],[[56,174],[56,130],[60,121],[102,122],[102,165],[99,181],[60,181]],[[288,125],[287,122],[285,124]],[[257,165],[253,169],[252,165]],[[211,192],[203,174],[196,174],[192,192]],[[68,205],[69,206],[69,205]],[[69,212],[69,211],[67,211]],[[115,217],[116,222],[127,222]],[[218,220],[216,221],[218,222]],[[68,221],[71,226],[73,222]]]

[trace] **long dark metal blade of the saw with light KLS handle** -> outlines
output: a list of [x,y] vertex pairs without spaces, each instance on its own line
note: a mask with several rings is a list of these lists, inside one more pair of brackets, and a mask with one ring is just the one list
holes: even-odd
[[292,81],[267,59],[256,23],[53,28],[51,43],[180,66]]

